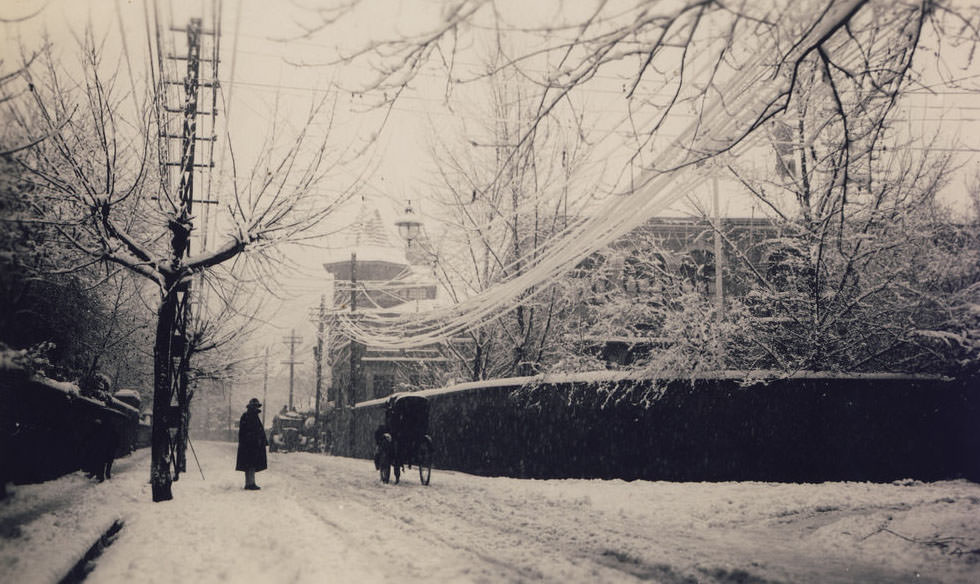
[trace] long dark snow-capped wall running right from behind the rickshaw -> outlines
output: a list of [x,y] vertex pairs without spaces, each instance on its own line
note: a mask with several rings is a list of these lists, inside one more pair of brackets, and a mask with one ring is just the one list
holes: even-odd
[[[975,379],[526,381],[420,392],[435,466],[524,478],[980,480]],[[373,454],[383,411],[384,400],[354,409],[354,456]]]

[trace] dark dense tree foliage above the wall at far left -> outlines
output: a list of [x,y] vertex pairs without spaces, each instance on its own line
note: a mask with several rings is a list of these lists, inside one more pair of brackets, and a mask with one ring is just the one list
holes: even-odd
[[138,287],[106,265],[69,268],[73,250],[33,222],[25,189],[22,169],[0,158],[0,342],[44,344],[49,377],[72,381],[101,370],[116,387],[137,387],[150,378],[149,361],[135,350],[148,323]]

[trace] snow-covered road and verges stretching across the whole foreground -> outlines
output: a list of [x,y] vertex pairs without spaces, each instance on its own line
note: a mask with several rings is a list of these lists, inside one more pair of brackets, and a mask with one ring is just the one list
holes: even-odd
[[[271,454],[242,490],[233,444],[198,443],[175,500],[148,452],[0,502],[0,582],[57,582],[113,521],[86,582],[978,582],[980,485],[530,481]],[[193,458],[191,459],[193,465]]]

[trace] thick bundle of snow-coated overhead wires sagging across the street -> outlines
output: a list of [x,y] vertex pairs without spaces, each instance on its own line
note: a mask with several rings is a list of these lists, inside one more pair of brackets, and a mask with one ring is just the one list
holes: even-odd
[[[835,18],[842,18],[859,2],[852,0],[831,7],[786,61],[801,57],[801,51],[832,30]],[[693,163],[700,157],[730,149],[747,131],[745,126],[762,119],[789,89],[792,81],[785,71],[774,76],[762,65],[767,58],[766,51],[759,51],[742,67],[749,73],[731,74],[718,92],[723,98],[705,103],[703,118],[688,125],[682,138],[675,140],[675,147],[661,150],[656,165],[644,172],[638,188],[607,199],[600,213],[572,221],[552,238],[553,243],[536,250],[534,257],[513,260],[508,269],[516,276],[437,313],[389,317],[338,313],[337,322],[359,342],[388,349],[409,348],[438,343],[482,326],[514,306],[518,298],[540,292],[542,284],[584,260],[594,249],[638,227],[707,180],[703,172],[692,172]]]

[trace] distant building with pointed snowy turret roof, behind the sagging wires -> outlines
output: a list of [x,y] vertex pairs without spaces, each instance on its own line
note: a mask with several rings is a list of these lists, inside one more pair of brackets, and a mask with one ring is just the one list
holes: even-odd
[[[353,305],[355,315],[404,314],[428,310],[438,302],[438,286],[429,268],[420,265],[417,255],[406,253],[404,243],[393,243],[388,232],[378,210],[364,207],[348,233],[350,256],[323,264],[334,277],[335,309],[350,310]],[[422,371],[446,362],[435,347],[391,351],[352,344],[349,339],[330,346],[333,384],[327,400],[336,403],[339,394],[348,405],[421,389]]]

